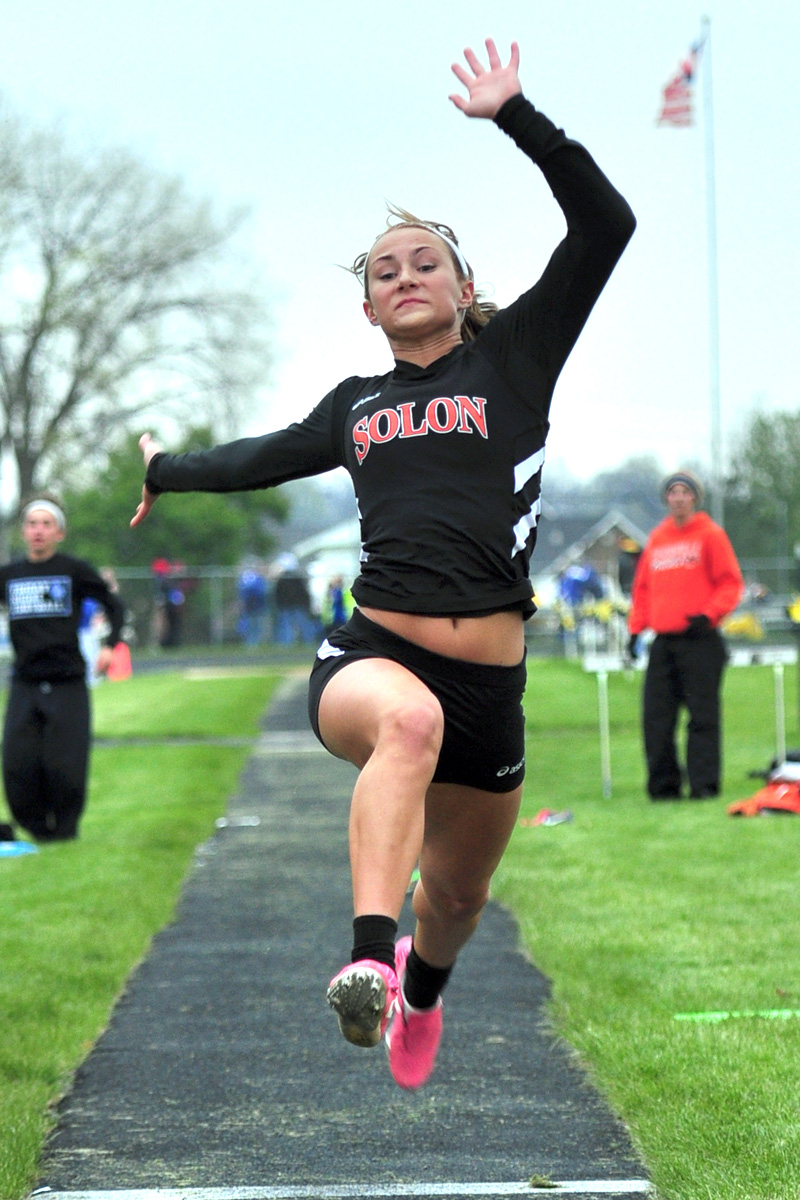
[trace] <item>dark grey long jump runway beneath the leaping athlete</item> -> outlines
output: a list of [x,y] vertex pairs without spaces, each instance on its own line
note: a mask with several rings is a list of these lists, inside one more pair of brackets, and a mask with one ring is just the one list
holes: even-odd
[[[547,980],[491,904],[415,1093],[325,1003],[350,948],[354,770],[289,680],[47,1146],[48,1200],[644,1195],[625,1128],[549,1030]],[[411,929],[409,912],[401,934]],[[533,1181],[533,1183],[531,1183]],[[541,1184],[549,1183],[549,1187]],[[553,1184],[557,1184],[554,1188]]]

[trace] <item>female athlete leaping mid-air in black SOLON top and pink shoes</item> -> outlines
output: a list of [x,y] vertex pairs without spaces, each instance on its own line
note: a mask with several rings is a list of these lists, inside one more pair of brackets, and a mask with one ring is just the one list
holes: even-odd
[[[542,172],[566,235],[541,278],[498,312],[475,293],[453,232],[392,209],[354,264],[392,370],[338,384],[301,422],[197,454],[142,438],[160,492],[242,491],[344,466],[362,569],[353,618],[320,646],[309,713],[360,774],[350,808],[351,961],[329,985],[344,1037],[389,1028],[401,1087],[423,1084],[441,990],[474,932],[513,829],[524,775],[523,622],[558,376],[618,262],[633,215],[577,142],[525,100],[519,53],[453,72],[469,118],[494,121]],[[501,188],[499,190],[501,191]],[[395,944],[409,878],[414,936]]]

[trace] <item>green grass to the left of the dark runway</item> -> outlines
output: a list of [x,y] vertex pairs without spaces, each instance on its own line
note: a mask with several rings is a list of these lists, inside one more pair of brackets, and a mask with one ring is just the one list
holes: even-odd
[[52,1105],[102,1032],[126,977],[174,913],[194,848],[235,791],[277,676],[143,676],[95,692],[95,746],[77,842],[0,860],[0,1196],[30,1189]]

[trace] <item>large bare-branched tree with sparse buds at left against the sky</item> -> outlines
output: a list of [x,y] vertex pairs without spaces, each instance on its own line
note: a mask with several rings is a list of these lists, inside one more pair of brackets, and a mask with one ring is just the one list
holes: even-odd
[[[231,432],[264,383],[265,313],[218,223],[124,150],[0,120],[0,448],[24,497],[148,412]],[[92,462],[96,466],[96,461]]]

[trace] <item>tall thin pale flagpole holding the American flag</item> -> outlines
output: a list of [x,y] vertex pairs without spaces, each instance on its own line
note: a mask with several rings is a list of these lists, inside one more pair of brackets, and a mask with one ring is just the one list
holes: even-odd
[[720,403],[720,298],[717,274],[714,97],[711,95],[711,19],[703,17],[703,125],[705,134],[705,222],[709,292],[709,394],[711,412],[711,516],[724,524],[722,414]]

